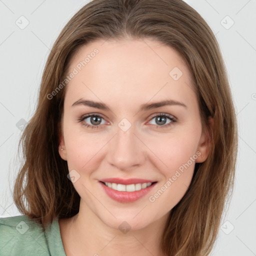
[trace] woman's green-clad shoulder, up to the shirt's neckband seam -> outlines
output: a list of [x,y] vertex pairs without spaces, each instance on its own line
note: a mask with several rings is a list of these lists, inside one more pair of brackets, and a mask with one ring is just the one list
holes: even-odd
[[43,227],[27,215],[0,218],[0,255],[49,255]]

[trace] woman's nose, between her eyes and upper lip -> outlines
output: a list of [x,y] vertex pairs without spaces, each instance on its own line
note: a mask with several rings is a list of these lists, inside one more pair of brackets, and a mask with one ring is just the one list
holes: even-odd
[[117,133],[109,141],[107,161],[119,170],[130,170],[142,165],[146,158],[146,146],[130,127],[123,131],[119,127]]

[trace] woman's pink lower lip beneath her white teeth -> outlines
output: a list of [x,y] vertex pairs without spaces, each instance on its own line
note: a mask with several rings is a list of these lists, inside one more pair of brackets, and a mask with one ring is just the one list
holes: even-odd
[[146,188],[142,188],[140,190],[136,190],[136,191],[132,191],[132,192],[117,191],[117,190],[114,190],[114,189],[104,185],[102,182],[99,182],[99,183],[110,198],[112,198],[118,202],[133,202],[133,201],[138,200],[145,194],[147,194],[154,187],[154,185],[157,182],[153,183],[152,185],[150,185]]

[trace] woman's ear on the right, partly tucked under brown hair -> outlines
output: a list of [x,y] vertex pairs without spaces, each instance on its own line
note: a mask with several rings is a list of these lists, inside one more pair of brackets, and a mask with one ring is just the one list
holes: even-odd
[[204,162],[209,154],[211,147],[210,132],[213,127],[213,118],[209,117],[207,121],[208,123],[202,129],[201,137],[197,146],[197,151],[199,151],[201,154],[199,157],[197,157],[195,162]]

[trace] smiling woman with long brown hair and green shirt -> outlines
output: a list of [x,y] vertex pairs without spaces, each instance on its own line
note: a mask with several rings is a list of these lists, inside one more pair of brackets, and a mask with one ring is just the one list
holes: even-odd
[[0,218],[2,255],[208,255],[237,151],[211,29],[181,0],[89,2],[20,143],[24,215]]

